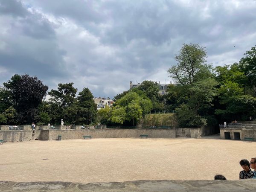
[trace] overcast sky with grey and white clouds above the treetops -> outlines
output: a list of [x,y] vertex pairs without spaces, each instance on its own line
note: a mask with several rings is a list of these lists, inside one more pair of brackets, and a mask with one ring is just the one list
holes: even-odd
[[256,0],[0,0],[0,84],[29,74],[111,97],[169,83],[183,43],[233,64],[256,45]]

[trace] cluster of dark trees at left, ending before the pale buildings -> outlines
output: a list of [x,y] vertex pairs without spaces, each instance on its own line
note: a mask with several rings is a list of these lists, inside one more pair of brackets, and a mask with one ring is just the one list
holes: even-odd
[[90,124],[96,119],[96,104],[88,88],[76,96],[73,83],[58,84],[58,90],[49,91],[49,101],[44,101],[48,87],[37,77],[14,75],[0,88],[0,123],[24,125]]

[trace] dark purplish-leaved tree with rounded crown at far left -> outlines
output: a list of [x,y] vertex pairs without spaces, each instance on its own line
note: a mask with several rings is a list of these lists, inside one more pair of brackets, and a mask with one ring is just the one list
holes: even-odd
[[28,74],[14,75],[3,83],[12,95],[12,104],[17,111],[17,122],[20,124],[38,121],[38,106],[41,104],[48,87],[36,76]]

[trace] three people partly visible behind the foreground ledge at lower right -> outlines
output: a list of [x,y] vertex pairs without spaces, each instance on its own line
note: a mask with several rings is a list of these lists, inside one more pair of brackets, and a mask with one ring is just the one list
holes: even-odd
[[[256,179],[256,157],[251,158],[250,162],[242,159],[239,164],[243,170],[239,173],[239,179]],[[254,171],[251,170],[254,169]],[[227,180],[223,175],[215,175],[215,180]]]

